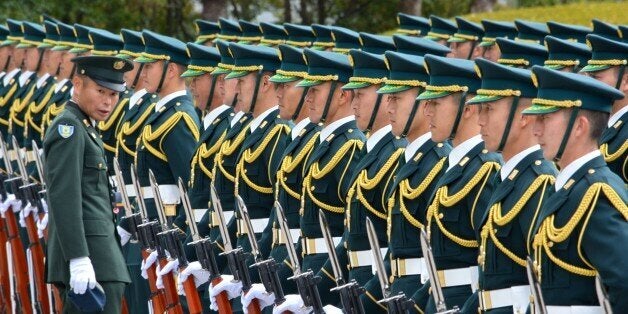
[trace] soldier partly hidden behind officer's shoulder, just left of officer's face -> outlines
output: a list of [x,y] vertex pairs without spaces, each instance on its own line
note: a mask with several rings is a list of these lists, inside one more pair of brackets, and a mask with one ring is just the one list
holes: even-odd
[[59,64],[59,74],[57,75],[58,82],[55,86],[54,94],[50,97],[44,108],[44,115],[41,122],[42,140],[43,134],[46,133],[46,129],[52,120],[63,111],[63,104],[70,99],[72,76],[75,72],[75,65],[70,61],[76,56],[76,54],[70,52],[70,49],[72,49],[76,43],[74,27],[59,22],[57,23],[57,29],[59,30],[59,42],[52,47],[52,50],[61,53],[61,61]]

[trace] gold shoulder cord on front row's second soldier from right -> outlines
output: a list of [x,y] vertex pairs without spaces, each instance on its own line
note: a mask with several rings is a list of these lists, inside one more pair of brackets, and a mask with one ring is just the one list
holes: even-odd
[[[484,262],[486,260],[486,244],[488,242],[488,238],[490,236],[491,241],[495,244],[495,246],[510,258],[513,262],[517,263],[521,267],[526,267],[525,258],[518,257],[515,253],[510,251],[503,243],[499,241],[497,238],[497,227],[503,227],[512,222],[512,220],[519,215],[523,207],[528,203],[530,198],[536,193],[539,188],[541,188],[542,193],[545,193],[547,186],[550,184],[554,184],[555,178],[552,175],[540,175],[538,176],[532,184],[528,187],[528,189],[521,195],[521,198],[517,200],[517,202],[513,205],[512,209],[506,214],[502,215],[502,204],[501,202],[493,204],[488,212],[488,218],[484,227],[482,227],[482,231],[480,232],[480,237],[482,239],[482,244],[480,245],[480,255],[478,256],[478,264],[484,267]],[[543,203],[543,194],[539,199],[539,203],[536,208],[536,212],[541,207]]]

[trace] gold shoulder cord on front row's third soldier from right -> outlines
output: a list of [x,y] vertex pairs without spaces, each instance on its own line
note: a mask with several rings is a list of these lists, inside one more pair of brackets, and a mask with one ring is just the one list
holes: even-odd
[[[467,182],[467,184],[465,184],[465,186],[460,191],[458,191],[457,193],[453,195],[448,195],[448,187],[446,185],[438,188],[438,190],[436,190],[436,194],[434,195],[434,201],[432,202],[432,205],[430,205],[430,207],[427,210],[428,230],[431,230],[430,227],[432,224],[432,219],[434,219],[440,231],[449,240],[453,241],[454,243],[460,246],[467,247],[467,248],[479,247],[479,243],[477,240],[463,239],[454,235],[449,230],[447,230],[445,228],[445,225],[441,221],[441,219],[444,217],[444,214],[439,213],[439,208],[441,205],[444,207],[451,207],[451,206],[456,205],[465,196],[467,196],[467,194],[469,194],[469,192],[471,192],[471,190],[481,180],[484,179],[484,183],[486,183],[486,181],[488,180],[488,178],[490,177],[492,173],[492,170],[497,170],[499,169],[499,167],[500,167],[499,164],[496,162],[487,162],[483,164],[482,167],[478,169],[478,172],[473,176],[473,178],[471,178],[471,180],[469,180],[469,182]],[[478,196],[481,194],[480,192],[481,191],[478,192]],[[475,207],[475,204],[474,204],[474,207]],[[473,213],[473,210],[475,210],[475,208],[472,208],[471,213]],[[473,214],[471,214],[471,216],[473,216]]]

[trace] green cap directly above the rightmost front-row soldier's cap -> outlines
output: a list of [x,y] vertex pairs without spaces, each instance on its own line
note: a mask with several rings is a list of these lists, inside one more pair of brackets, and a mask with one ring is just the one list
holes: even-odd
[[545,44],[549,56],[544,65],[550,69],[578,72],[591,59],[591,48],[579,42],[548,35]]

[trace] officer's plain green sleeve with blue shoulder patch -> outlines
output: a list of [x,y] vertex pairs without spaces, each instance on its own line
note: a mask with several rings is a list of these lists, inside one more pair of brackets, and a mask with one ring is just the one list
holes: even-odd
[[[72,127],[73,133],[63,138],[58,125]],[[66,261],[89,256],[83,228],[81,182],[86,136],[82,127],[74,120],[61,120],[51,126],[44,141],[49,215]]]

